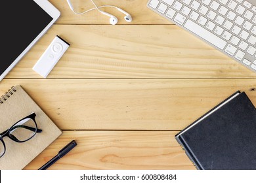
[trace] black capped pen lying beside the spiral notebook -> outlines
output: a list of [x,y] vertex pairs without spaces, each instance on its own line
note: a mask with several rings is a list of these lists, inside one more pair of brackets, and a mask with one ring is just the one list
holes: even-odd
[[64,148],[62,148],[62,150],[60,150],[58,152],[58,154],[56,156],[54,156],[50,161],[45,163],[45,165],[43,165],[39,170],[48,169],[51,165],[53,165],[53,163],[58,161],[58,159],[62,158],[63,156],[65,156],[65,154],[70,152],[70,150],[72,150],[72,148],[74,148],[76,145],[77,145],[77,143],[75,142],[75,140],[69,142],[66,146],[64,146]]

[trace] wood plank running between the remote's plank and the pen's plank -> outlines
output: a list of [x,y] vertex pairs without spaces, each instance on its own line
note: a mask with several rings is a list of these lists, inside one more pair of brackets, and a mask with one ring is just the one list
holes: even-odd
[[255,79],[5,79],[21,84],[60,129],[181,130]]

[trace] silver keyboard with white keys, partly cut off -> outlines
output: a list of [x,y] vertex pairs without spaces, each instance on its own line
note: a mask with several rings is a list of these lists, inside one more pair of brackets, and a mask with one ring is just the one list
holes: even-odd
[[256,73],[256,0],[149,0],[147,7]]

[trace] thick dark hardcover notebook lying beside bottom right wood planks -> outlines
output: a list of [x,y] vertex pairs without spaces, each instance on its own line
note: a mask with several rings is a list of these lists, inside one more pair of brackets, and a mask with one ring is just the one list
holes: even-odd
[[197,169],[256,169],[256,109],[236,92],[175,139]]

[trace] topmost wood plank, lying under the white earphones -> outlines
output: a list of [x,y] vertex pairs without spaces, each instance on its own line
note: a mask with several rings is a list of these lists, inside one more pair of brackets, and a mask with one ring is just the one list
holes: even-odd
[[[89,10],[94,8],[93,3],[91,1],[75,1],[70,0],[76,12],[83,12],[85,10]],[[87,12],[86,14],[77,15],[72,12],[70,7],[68,7],[68,3],[66,0],[50,0],[53,5],[58,8],[61,12],[61,16],[56,22],[56,24],[106,24],[109,25],[109,17],[103,14],[100,14],[97,10],[93,10],[91,12]],[[97,0],[95,1],[96,5],[114,5],[116,7],[122,8],[129,14],[131,14],[133,21],[131,23],[126,22],[124,20],[124,14],[116,10],[116,8],[102,8],[105,12],[113,14],[118,18],[117,25],[120,24],[172,24],[165,18],[161,18],[158,14],[154,13],[148,7],[146,7],[146,3],[148,0]],[[117,26],[116,25],[116,26]]]

